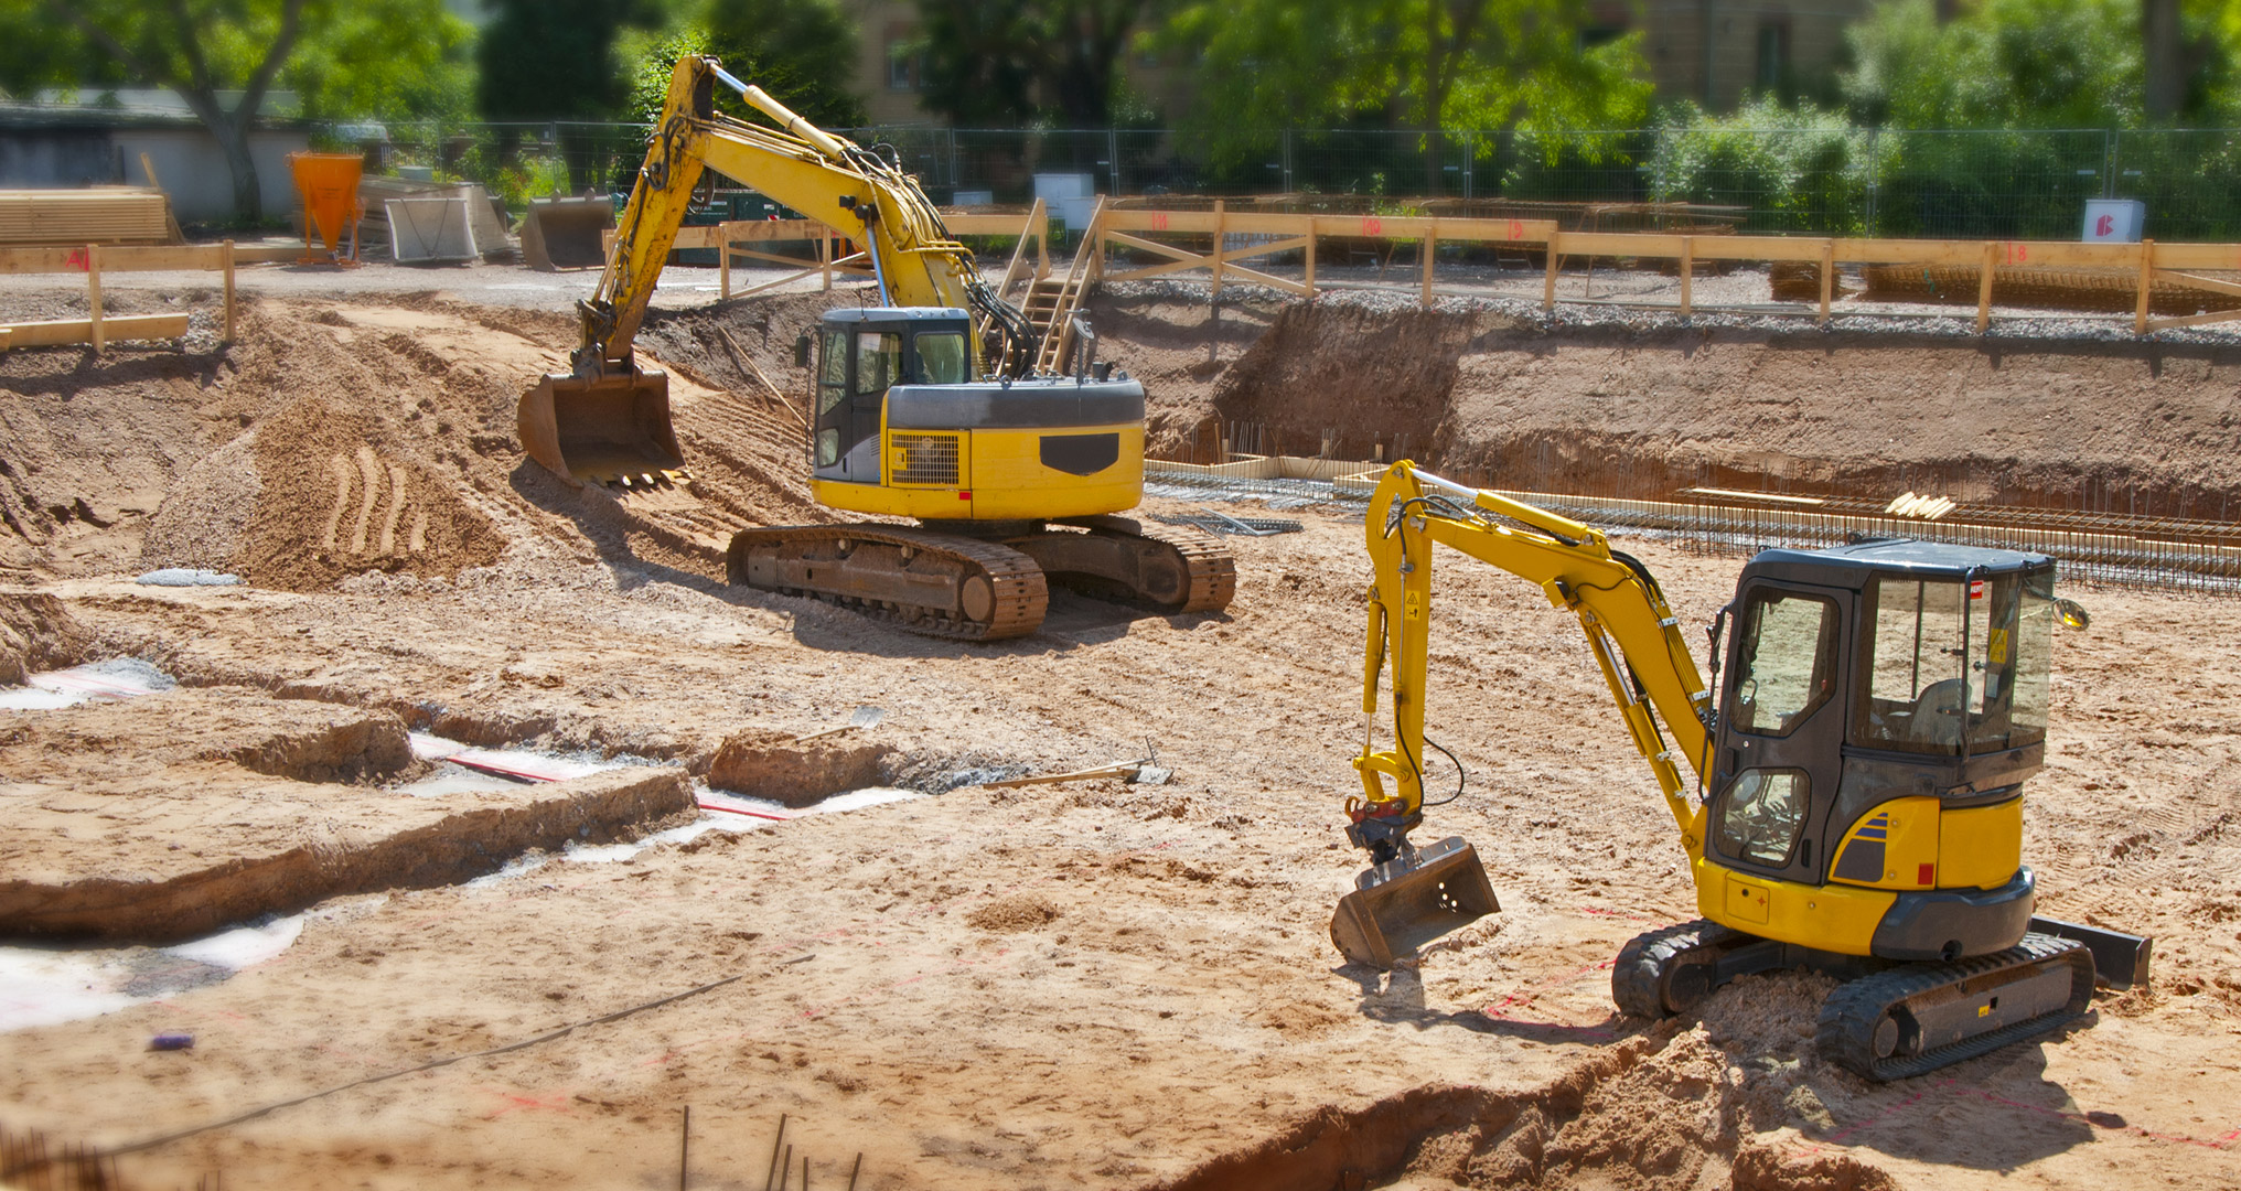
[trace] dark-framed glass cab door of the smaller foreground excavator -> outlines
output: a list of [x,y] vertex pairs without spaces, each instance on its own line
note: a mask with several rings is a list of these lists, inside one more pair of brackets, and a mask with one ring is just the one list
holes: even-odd
[[1714,747],[1705,855],[1726,868],[1820,884],[1822,819],[1844,745],[1842,588],[1748,583],[1737,599]]

